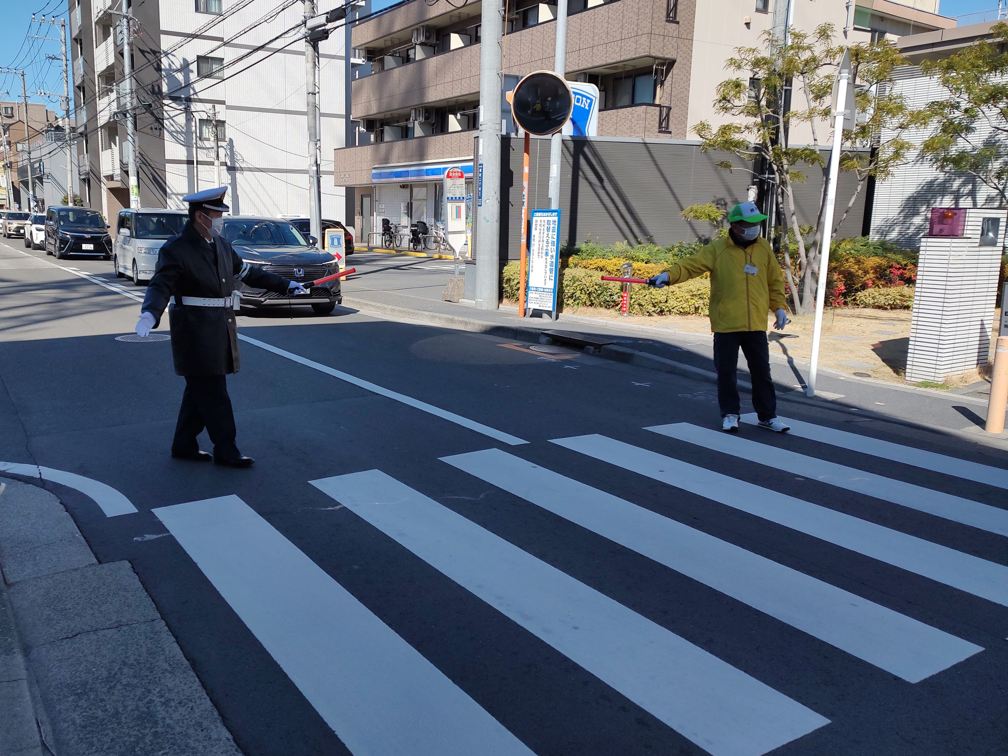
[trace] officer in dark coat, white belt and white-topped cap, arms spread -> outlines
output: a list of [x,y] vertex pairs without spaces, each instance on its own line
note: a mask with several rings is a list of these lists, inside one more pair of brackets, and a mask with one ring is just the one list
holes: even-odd
[[[157,328],[168,299],[171,357],[175,373],[185,377],[171,456],[181,460],[247,468],[254,462],[235,446],[235,415],[226,376],[237,373],[238,328],[232,290],[237,281],[277,293],[307,293],[301,284],[242,261],[221,236],[227,186],[183,197],[190,220],[178,236],[161,247],[157,269],[143,298],[138,336]],[[197,436],[207,428],[213,457],[201,452]]]

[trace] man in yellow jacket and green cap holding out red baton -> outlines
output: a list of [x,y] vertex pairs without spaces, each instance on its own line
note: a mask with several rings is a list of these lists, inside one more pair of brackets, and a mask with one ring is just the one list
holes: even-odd
[[714,365],[718,371],[718,404],[722,429],[739,432],[739,388],[736,380],[739,348],[749,363],[753,407],[761,427],[783,432],[790,428],[777,417],[777,395],[770,379],[770,350],[766,319],[773,310],[778,331],[788,323],[784,275],[773,248],[759,235],[766,216],[754,203],[741,203],[728,214],[728,236],[672,264],[648,279],[661,288],[704,273],[711,274],[711,330]]

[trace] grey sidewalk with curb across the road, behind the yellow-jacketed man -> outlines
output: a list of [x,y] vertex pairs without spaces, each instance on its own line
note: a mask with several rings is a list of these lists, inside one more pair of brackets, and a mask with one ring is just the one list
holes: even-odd
[[[396,287],[378,289],[355,287],[348,282],[344,306],[395,320],[485,333],[503,339],[542,342],[542,332],[562,331],[611,341],[600,356],[630,362],[641,367],[678,373],[714,382],[713,338],[710,334],[675,331],[662,327],[614,324],[581,316],[560,314],[557,322],[540,318],[518,318],[517,310],[502,307],[480,310],[472,306],[414,296]],[[863,417],[924,425],[942,432],[965,433],[974,442],[1004,446],[1008,433],[1000,436],[983,431],[986,398],[962,393],[900,385],[870,378],[858,378],[829,369],[820,370],[817,396],[804,395],[807,364],[771,355],[771,372],[778,397],[785,402],[827,404]],[[740,356],[740,385],[745,383],[745,360]],[[786,405],[779,408],[786,414]]]

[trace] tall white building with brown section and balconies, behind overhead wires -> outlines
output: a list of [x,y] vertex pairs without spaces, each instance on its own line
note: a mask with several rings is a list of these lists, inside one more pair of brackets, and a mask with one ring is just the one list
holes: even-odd
[[[131,65],[140,204],[227,184],[235,214],[308,213],[303,6],[298,0],[70,0],[79,194],[112,218],[129,206],[120,19]],[[346,143],[349,33],[320,44],[323,215],[345,218],[326,159]]]

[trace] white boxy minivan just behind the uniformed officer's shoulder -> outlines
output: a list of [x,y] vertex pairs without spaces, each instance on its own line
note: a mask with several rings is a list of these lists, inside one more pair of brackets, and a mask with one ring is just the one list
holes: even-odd
[[188,214],[180,210],[120,210],[116,240],[112,244],[112,269],[116,277],[129,276],[136,286],[149,281],[161,245],[180,234],[187,220]]

